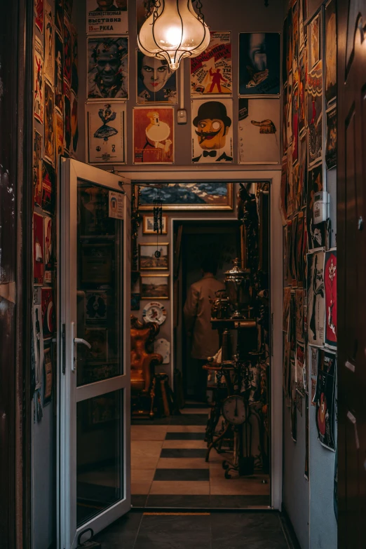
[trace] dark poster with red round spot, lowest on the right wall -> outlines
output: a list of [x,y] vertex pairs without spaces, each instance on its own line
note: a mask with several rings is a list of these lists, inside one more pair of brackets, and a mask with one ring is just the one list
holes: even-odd
[[335,377],[336,355],[318,351],[318,374],[316,379],[316,427],[321,444],[335,452]]

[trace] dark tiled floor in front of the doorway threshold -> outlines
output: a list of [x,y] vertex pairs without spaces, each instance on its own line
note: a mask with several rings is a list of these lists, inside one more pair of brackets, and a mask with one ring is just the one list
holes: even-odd
[[291,549],[278,513],[128,513],[95,537],[102,549]]

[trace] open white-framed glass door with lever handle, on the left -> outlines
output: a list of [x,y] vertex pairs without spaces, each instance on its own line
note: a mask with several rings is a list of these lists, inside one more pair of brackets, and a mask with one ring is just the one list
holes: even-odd
[[100,531],[130,509],[130,207],[120,182],[62,159],[62,549],[75,548],[82,531]]

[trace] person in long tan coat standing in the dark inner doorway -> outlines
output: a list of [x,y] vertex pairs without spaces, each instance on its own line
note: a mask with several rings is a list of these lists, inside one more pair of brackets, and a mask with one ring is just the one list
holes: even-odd
[[184,305],[186,330],[192,337],[191,358],[197,371],[196,398],[205,402],[207,374],[203,370],[209,356],[219,350],[219,335],[211,326],[210,299],[215,299],[218,290],[224,290],[224,284],[216,280],[217,262],[208,257],[201,265],[203,278],[191,285]]

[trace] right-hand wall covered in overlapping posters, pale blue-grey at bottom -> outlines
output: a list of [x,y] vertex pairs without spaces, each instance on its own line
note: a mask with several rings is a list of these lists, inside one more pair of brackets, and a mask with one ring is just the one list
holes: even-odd
[[337,13],[310,4],[283,25],[284,504],[301,547],[336,547]]

